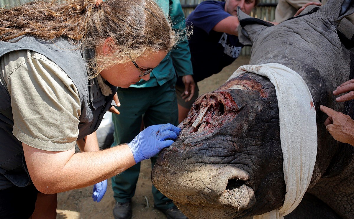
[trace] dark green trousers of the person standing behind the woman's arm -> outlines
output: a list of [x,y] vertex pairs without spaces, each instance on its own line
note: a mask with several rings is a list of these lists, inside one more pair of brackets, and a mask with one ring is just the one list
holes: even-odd
[[[121,106],[119,115],[113,114],[114,143],[112,146],[129,143],[140,132],[141,122],[148,127],[171,123],[178,125],[178,108],[175,80],[162,86],[144,88],[118,88]],[[156,155],[151,158],[152,166]],[[140,172],[140,163],[119,175],[112,177],[112,189],[117,202],[128,202],[135,194]],[[172,200],[162,195],[155,186],[152,187],[156,207],[167,209],[173,206]]]

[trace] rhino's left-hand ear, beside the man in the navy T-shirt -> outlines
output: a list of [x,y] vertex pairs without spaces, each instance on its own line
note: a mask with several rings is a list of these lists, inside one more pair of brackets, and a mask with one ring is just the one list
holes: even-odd
[[237,17],[239,18],[239,40],[245,46],[252,46],[258,35],[267,27],[274,24],[251,17],[237,7]]

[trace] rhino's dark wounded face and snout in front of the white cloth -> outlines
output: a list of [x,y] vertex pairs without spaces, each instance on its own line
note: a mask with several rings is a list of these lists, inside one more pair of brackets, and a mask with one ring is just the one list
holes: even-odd
[[156,188],[189,217],[267,212],[263,206],[270,200],[276,201],[267,207],[281,206],[279,115],[268,79],[245,74],[228,81],[200,96],[180,126],[182,133],[161,152],[152,176]]

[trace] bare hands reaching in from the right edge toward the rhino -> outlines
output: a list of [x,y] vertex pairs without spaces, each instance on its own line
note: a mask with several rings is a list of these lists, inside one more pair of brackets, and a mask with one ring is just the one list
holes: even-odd
[[[349,93],[346,93],[349,92]],[[346,93],[336,98],[337,102],[354,99],[354,79],[346,81],[333,91],[334,95]],[[348,143],[354,146],[354,120],[350,116],[339,113],[326,106],[320,106],[320,110],[327,114],[325,121],[327,131],[338,142]]]

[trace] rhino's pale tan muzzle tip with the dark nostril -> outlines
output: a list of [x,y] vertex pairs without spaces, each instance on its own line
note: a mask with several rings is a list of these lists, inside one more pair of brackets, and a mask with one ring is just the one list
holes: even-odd
[[[180,152],[170,153],[167,152],[169,155],[166,155],[178,156],[176,153]],[[152,174],[154,185],[167,197],[185,205],[186,208],[208,206],[218,211],[228,208],[234,209],[234,213],[238,214],[255,204],[250,174],[233,165],[204,164],[178,171],[159,163],[155,165]],[[160,175],[164,177],[159,177]]]

